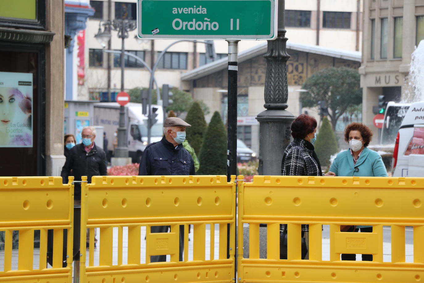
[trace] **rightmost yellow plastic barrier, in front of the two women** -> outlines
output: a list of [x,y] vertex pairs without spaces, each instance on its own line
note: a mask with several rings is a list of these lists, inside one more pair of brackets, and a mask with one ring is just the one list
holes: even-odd
[[[423,202],[424,178],[255,176],[239,182],[237,282],[422,282]],[[262,223],[267,258],[259,258]],[[249,258],[243,258],[243,224],[249,224]],[[280,259],[279,224],[288,225],[288,259]],[[301,259],[301,224],[309,224],[308,260]],[[327,261],[322,225],[329,225]],[[373,230],[340,232],[340,225]],[[390,260],[383,260],[383,226],[391,231]],[[413,227],[413,262],[405,262],[406,226]],[[371,254],[373,261],[341,261],[342,253]]]

